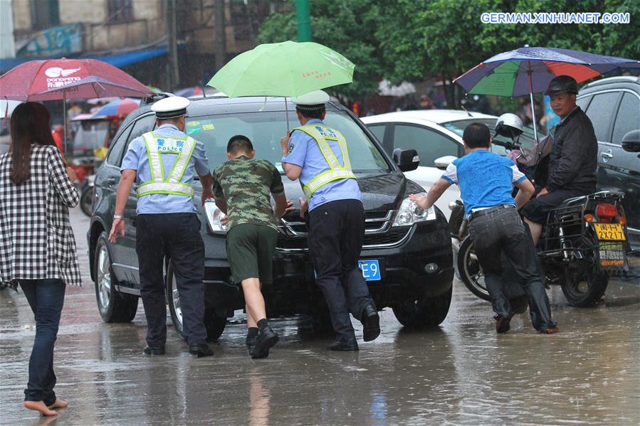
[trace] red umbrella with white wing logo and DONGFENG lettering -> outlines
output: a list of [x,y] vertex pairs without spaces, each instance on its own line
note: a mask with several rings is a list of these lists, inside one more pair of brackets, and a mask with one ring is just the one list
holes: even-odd
[[150,96],[152,92],[122,70],[95,59],[31,60],[0,76],[0,97],[27,101],[107,96]]

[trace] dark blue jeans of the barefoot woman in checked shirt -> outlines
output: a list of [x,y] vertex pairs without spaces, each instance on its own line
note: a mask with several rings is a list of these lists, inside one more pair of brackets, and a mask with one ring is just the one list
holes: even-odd
[[53,344],[58,337],[66,286],[61,279],[21,279],[19,283],[36,317],[36,339],[29,358],[29,381],[24,400],[51,405],[56,402]]

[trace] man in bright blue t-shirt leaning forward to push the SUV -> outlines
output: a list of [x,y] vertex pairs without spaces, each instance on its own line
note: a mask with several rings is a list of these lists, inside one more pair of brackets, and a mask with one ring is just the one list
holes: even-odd
[[[469,124],[463,134],[466,156],[454,160],[426,196],[411,195],[421,208],[431,208],[442,193],[456,183],[460,187],[471,239],[482,266],[495,316],[495,330],[506,333],[513,311],[505,296],[502,253],[523,284],[531,321],[540,333],[557,333],[551,319],[549,299],[535,258],[535,247],[518,208],[533,195],[533,184],[513,161],[489,151],[491,133],[480,123]],[[511,196],[513,185],[520,191]],[[512,284],[512,283],[510,283]]]

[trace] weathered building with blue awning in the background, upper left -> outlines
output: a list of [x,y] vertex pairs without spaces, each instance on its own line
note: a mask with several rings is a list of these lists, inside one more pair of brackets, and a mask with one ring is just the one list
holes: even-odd
[[[283,0],[10,0],[10,5],[16,58],[2,60],[1,72],[34,58],[99,58],[163,90],[204,85],[221,64],[256,46],[268,14],[290,7]],[[169,78],[169,40],[177,41],[176,78]]]

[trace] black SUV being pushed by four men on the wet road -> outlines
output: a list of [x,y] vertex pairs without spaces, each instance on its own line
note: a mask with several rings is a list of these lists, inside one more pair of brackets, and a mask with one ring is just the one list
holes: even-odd
[[[95,282],[98,308],[104,321],[131,321],[140,296],[140,278],[135,252],[135,186],[125,207],[125,236],[116,244],[107,241],[120,180],[120,163],[127,145],[153,129],[155,117],[150,99],[132,112],[117,132],[107,158],[95,178],[95,204],[88,231],[91,277]],[[293,104],[288,105],[289,124],[295,127]],[[285,103],[281,97],[206,97],[192,100],[187,133],[204,143],[211,169],[226,161],[226,143],[234,134],[245,134],[256,147],[256,156],[268,159],[280,171],[280,137],[285,134]],[[451,303],[453,267],[451,240],[444,215],[409,201],[409,194],[424,189],[405,179],[402,171],[418,165],[414,150],[398,150],[394,161],[384,153],[357,117],[341,105],[327,105],[327,125],[345,135],[366,214],[361,269],[379,309],[392,307],[405,326],[436,326],[444,321]],[[300,183],[283,179],[291,200],[303,196]],[[201,188],[196,182],[194,202]],[[205,245],[206,326],[209,339],[224,331],[226,319],[243,309],[243,295],[234,284],[225,250],[224,225],[215,203],[197,206]],[[326,326],[327,307],[314,282],[305,224],[299,212],[285,215],[280,223],[273,284],[263,288],[267,314],[310,315],[317,326]],[[167,260],[167,301],[178,332],[182,311],[171,262]]]

